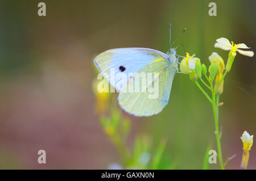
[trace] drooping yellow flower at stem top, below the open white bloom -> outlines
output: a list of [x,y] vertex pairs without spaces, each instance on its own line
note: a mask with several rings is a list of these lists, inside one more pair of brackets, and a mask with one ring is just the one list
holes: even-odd
[[[210,56],[209,56],[209,60],[210,60],[210,64],[213,64],[214,62],[216,62],[218,64],[218,72],[216,74],[215,77],[215,81],[214,81],[214,89],[217,87],[218,83],[220,83],[221,78],[223,77],[223,73],[225,70],[225,64],[223,59],[221,58],[221,56],[218,55],[218,53],[213,52]],[[210,70],[210,67],[209,67]],[[222,94],[223,92],[223,87],[224,87],[224,80],[222,80],[221,85],[218,87],[218,94]]]

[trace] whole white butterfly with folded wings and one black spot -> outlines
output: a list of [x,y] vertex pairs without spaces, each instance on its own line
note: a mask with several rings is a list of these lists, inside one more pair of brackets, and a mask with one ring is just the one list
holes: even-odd
[[[118,103],[122,109],[135,116],[152,116],[163,110],[168,104],[172,81],[178,70],[175,48],[170,48],[167,53],[150,48],[110,49],[99,54],[94,59],[94,64],[110,85],[119,91]],[[121,83],[123,79],[110,80],[110,77],[115,77],[118,73],[128,77],[125,86]],[[131,76],[131,73],[134,74]],[[149,83],[138,82],[142,73],[158,73],[158,77],[154,77]],[[154,99],[150,98],[152,92],[128,90],[129,87],[134,90],[136,85],[139,85],[140,90],[150,90],[157,83],[158,96]]]

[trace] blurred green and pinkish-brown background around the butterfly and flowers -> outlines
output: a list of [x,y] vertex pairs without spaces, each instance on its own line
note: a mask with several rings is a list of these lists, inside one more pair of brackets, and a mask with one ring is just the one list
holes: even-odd
[[[48,1],[47,16],[38,16],[40,1],[1,1],[0,6],[0,168],[107,169],[120,163],[100,126],[92,82],[93,58],[104,50],[147,47],[167,52],[172,40],[184,44],[209,65],[219,37],[245,43],[256,52],[256,1]],[[182,47],[177,53],[184,55]],[[237,54],[225,78],[220,100],[226,169],[240,169],[243,131],[256,134],[256,59]],[[116,96],[116,94],[114,95]],[[117,100],[111,105],[116,104]],[[118,108],[120,109],[120,108]],[[190,81],[177,74],[168,106],[152,117],[131,120],[135,135],[147,134],[152,145],[167,140],[164,154],[175,169],[202,169],[207,147],[216,149],[211,105]],[[38,150],[47,153],[39,164]],[[218,165],[211,165],[216,169]],[[249,169],[256,169],[255,145]]]

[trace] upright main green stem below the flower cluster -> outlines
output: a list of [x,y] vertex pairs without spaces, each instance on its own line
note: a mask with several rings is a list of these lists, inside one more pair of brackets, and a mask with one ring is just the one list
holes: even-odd
[[215,122],[215,135],[216,135],[217,148],[218,148],[218,160],[220,162],[221,170],[224,170],[224,166],[223,166],[223,162],[222,162],[219,129],[218,129],[218,111],[217,111],[218,107],[216,106],[216,95],[215,95],[212,85],[211,85],[211,88],[212,88],[212,108],[213,108],[213,115],[214,115],[214,122]]

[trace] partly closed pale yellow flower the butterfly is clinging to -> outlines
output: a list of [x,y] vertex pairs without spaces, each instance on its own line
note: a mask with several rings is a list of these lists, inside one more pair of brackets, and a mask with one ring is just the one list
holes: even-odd
[[180,71],[183,73],[192,73],[196,68],[196,62],[200,61],[199,58],[189,56],[189,53],[186,53],[186,57],[180,62]]

